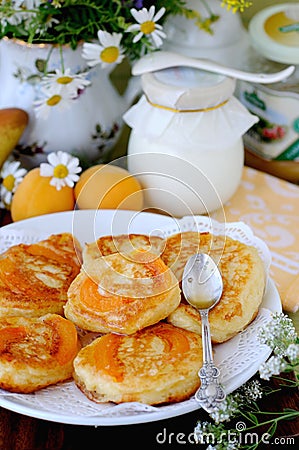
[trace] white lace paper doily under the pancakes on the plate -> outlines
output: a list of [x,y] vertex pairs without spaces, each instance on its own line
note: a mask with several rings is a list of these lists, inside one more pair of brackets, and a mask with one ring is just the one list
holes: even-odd
[[[206,217],[184,217],[172,221],[169,227],[160,227],[159,234],[167,236],[179,231],[210,231],[214,234],[226,234],[248,245],[255,246],[265,264],[265,270],[271,262],[271,255],[260,239],[255,237],[249,227],[243,223],[220,224]],[[142,233],[143,230],[141,229]],[[11,245],[33,243],[49,235],[42,230],[7,228],[0,230],[0,252]],[[221,382],[227,393],[232,392],[258,370],[267,359],[270,349],[261,345],[257,339],[259,328],[265,324],[271,311],[280,311],[281,304],[274,283],[269,280],[257,318],[239,335],[214,347],[215,363],[221,369]],[[88,338],[88,337],[87,337]],[[75,385],[66,382],[50,386],[33,394],[13,394],[0,390],[0,405],[32,417],[43,418],[62,423],[80,425],[117,425],[148,422],[184,414],[198,408],[194,398],[177,404],[149,406],[137,402],[114,405],[96,404],[89,400]]]

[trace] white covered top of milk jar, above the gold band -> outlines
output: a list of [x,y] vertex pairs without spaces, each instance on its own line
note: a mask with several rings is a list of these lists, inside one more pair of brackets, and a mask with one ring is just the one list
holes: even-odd
[[189,67],[173,67],[142,75],[142,88],[152,103],[169,108],[214,107],[228,100],[236,81]]

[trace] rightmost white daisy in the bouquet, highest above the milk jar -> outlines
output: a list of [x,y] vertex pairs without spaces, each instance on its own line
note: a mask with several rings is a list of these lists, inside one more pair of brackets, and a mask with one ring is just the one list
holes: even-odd
[[157,14],[155,14],[155,6],[152,5],[149,10],[146,8],[142,8],[137,11],[137,9],[132,8],[131,14],[138,22],[138,24],[130,25],[126,31],[134,32],[138,31],[136,36],[134,36],[133,42],[136,43],[140,41],[143,35],[151,37],[154,45],[156,47],[161,47],[163,43],[163,39],[166,38],[166,34],[162,31],[162,25],[157,24],[156,22],[161,19],[166,9],[163,7],[159,9]]

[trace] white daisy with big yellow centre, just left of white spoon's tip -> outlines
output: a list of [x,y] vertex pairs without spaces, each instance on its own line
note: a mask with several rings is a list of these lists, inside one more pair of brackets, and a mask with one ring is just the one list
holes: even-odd
[[121,33],[108,33],[107,31],[98,31],[100,44],[83,44],[82,56],[87,60],[90,67],[101,64],[102,67],[108,67],[110,64],[119,64],[125,57],[120,46],[122,38]]

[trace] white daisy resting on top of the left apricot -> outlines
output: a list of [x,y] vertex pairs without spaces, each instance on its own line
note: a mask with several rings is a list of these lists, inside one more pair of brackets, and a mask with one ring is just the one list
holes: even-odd
[[50,184],[60,191],[64,186],[74,187],[79,180],[79,159],[66,152],[53,152],[47,156],[48,163],[41,163],[40,175],[52,177]]

